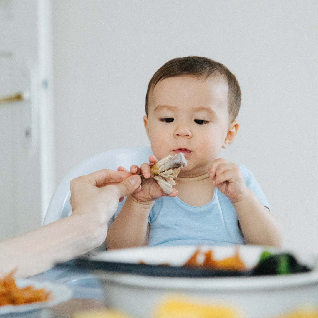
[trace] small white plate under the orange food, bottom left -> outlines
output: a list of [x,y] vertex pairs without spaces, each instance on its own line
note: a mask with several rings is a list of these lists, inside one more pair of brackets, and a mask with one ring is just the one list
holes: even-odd
[[33,286],[36,289],[45,288],[46,291],[51,292],[50,300],[38,301],[26,305],[0,306],[0,315],[8,313],[21,313],[45,307],[52,307],[65,302],[72,297],[72,290],[69,287],[66,285],[53,284],[49,281],[37,282],[32,280],[16,280],[16,284],[19,288],[26,286]]

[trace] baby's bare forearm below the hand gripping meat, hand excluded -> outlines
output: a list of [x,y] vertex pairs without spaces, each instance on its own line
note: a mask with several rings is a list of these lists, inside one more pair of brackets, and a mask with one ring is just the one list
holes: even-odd
[[127,197],[120,213],[108,229],[107,249],[147,245],[148,216],[152,206],[153,202],[140,204]]

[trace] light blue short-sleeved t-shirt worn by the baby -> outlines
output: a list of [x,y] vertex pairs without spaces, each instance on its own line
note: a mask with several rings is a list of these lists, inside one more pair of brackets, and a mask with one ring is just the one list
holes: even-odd
[[[239,166],[248,186],[268,209],[268,201],[252,172]],[[123,202],[114,215],[117,217]],[[178,197],[157,199],[149,213],[149,246],[244,244],[238,217],[231,201],[214,189],[213,199],[203,206],[191,206]]]

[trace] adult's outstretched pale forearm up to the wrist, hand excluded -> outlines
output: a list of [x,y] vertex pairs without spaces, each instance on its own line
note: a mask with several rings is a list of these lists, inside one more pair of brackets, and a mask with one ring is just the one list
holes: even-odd
[[28,277],[84,254],[105,240],[107,224],[81,214],[58,220],[0,243],[0,272],[17,269],[16,277]]

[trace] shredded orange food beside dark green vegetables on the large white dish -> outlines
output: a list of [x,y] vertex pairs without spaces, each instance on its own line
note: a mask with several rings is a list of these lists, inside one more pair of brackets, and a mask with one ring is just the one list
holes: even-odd
[[[199,254],[204,254],[205,259],[202,264],[199,264],[197,257]],[[199,266],[199,267],[209,267],[213,269],[223,269],[223,270],[233,270],[233,271],[244,271],[245,264],[239,257],[239,248],[235,248],[235,253],[226,259],[216,260],[213,259],[213,252],[207,251],[205,253],[201,252],[198,248],[194,254],[188,259],[184,266]]]

